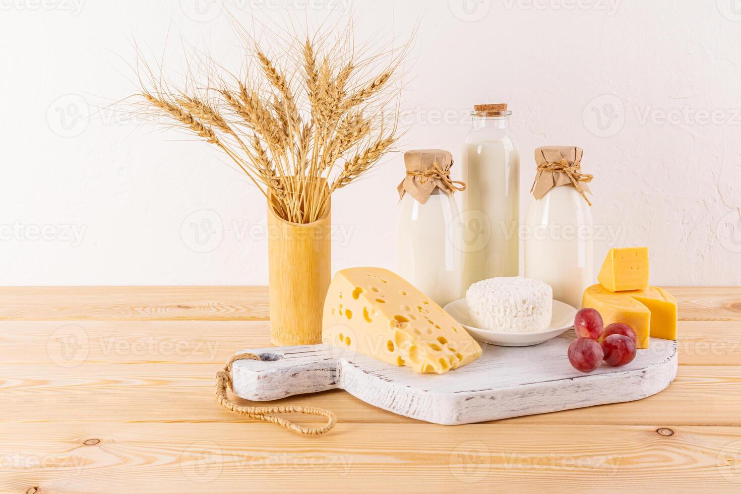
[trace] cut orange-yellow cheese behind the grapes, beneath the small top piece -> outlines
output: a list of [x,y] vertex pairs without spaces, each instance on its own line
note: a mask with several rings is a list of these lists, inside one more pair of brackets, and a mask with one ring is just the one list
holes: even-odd
[[636,332],[638,348],[648,348],[649,336],[677,339],[677,300],[662,288],[610,292],[593,284],[584,290],[582,307],[597,309],[605,326],[628,324]]

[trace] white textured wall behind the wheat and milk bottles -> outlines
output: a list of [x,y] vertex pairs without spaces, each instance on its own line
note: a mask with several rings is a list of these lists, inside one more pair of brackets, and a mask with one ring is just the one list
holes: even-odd
[[[405,103],[420,111],[405,147],[458,157],[471,106],[508,101],[523,205],[534,148],[579,145],[595,223],[619,245],[651,247],[654,284],[741,284],[740,1],[227,4],[278,26],[354,10],[358,39],[403,38],[419,21]],[[207,144],[110,111],[84,118],[135,89],[132,36],[239,57],[216,1],[0,0],[0,284],[267,281],[265,205]],[[335,269],[394,267],[401,176],[393,156],[336,195],[333,219],[350,235]]]

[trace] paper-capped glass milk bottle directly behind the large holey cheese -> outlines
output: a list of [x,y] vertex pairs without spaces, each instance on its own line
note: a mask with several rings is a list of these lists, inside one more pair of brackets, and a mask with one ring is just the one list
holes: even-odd
[[461,228],[453,193],[464,188],[450,180],[453,156],[445,150],[404,154],[407,175],[401,196],[397,236],[397,273],[440,307],[465,296]]

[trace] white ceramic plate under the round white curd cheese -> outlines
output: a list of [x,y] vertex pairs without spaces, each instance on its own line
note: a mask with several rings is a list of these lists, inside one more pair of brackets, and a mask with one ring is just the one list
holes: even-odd
[[556,336],[574,327],[574,316],[576,316],[576,309],[574,307],[554,300],[551,325],[545,328],[545,330],[538,333],[504,333],[502,331],[482,330],[476,327],[471,319],[471,314],[468,312],[468,304],[466,304],[465,298],[452,301],[443,307],[443,310],[462,324],[471,333],[473,338],[484,343],[499,345],[500,347],[530,347],[531,345],[548,341],[551,338],[556,338]]

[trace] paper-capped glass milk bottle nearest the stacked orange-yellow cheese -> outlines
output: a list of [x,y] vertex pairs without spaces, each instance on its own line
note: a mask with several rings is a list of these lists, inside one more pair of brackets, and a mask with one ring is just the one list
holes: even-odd
[[592,213],[585,195],[592,177],[581,173],[582,155],[574,146],[535,150],[538,168],[522,231],[525,276],[545,281],[555,300],[577,309],[594,279]]

